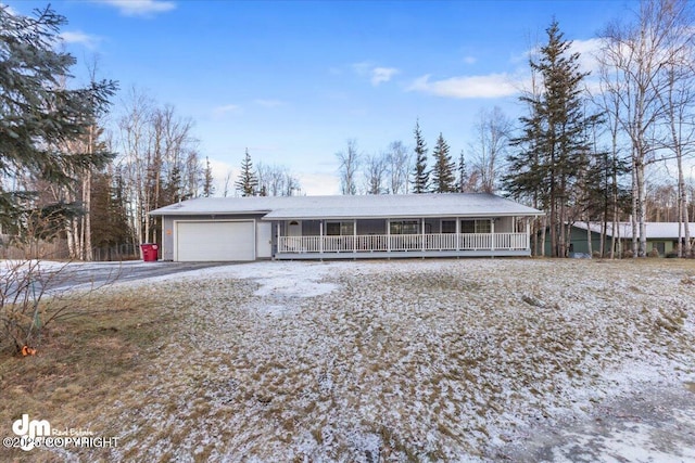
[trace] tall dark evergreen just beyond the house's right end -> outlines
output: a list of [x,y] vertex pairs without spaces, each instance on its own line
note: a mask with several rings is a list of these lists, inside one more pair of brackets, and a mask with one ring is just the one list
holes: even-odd
[[545,209],[552,255],[564,257],[569,249],[570,206],[578,197],[576,182],[585,173],[591,151],[584,129],[598,116],[585,114],[582,81],[587,73],[579,70],[579,53],[569,53],[571,42],[556,21],[546,33],[540,60],[530,62],[542,78],[542,90],[521,97],[531,114],[520,118],[522,134],[511,141],[519,151],[508,157],[513,173],[505,184],[513,195],[532,197]]

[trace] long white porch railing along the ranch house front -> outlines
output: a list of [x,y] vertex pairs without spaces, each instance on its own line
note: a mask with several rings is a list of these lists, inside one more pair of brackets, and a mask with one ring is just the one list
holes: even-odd
[[408,250],[523,250],[526,233],[428,233],[346,236],[280,236],[278,253],[371,253]]

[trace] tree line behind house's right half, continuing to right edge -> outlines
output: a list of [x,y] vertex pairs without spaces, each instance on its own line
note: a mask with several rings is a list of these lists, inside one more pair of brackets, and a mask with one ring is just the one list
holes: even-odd
[[[681,223],[679,256],[693,255],[695,188],[686,185],[684,166],[695,143],[693,12],[685,0],[636,7],[599,34],[597,76],[581,70],[580,54],[553,21],[529,60],[530,88],[519,98],[525,115],[514,127],[496,107],[481,112],[470,172],[463,152],[455,165],[441,133],[428,168],[418,120],[414,159],[399,158],[405,168],[394,167],[390,150],[361,156],[350,140],[337,153],[342,193],[496,191],[545,213],[533,227],[534,248],[544,254],[547,233],[552,256],[568,255],[571,224],[585,221],[602,226],[601,253],[608,247],[615,257],[618,222],[630,219],[630,253],[643,257],[648,219],[669,219]],[[675,170],[674,188],[648,188],[647,173],[658,166]],[[404,171],[407,179],[397,177]],[[388,188],[389,177],[400,180]]]

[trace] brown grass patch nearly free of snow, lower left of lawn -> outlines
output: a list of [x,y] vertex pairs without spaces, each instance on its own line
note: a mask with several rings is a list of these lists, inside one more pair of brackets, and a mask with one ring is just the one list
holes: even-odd
[[[147,365],[176,318],[163,310],[153,292],[142,290],[92,294],[88,307],[85,298],[74,304],[83,307],[73,312],[85,314],[50,326],[37,356],[0,357],[3,437],[12,434],[10,424],[23,413],[60,428],[84,428],[93,422],[124,388],[147,381]],[[109,426],[99,430],[103,436],[118,432]],[[39,449],[3,452],[17,461],[62,460]]]

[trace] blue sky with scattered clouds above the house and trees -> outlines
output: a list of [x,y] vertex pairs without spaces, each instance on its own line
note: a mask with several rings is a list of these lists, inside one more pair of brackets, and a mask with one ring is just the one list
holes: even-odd
[[[8,1],[26,14],[46,2]],[[623,1],[53,1],[84,67],[194,121],[218,181],[252,159],[289,167],[306,194],[339,192],[336,153],[428,146],[469,152],[476,115],[516,119],[528,51],[555,17],[577,50]],[[586,63],[591,69],[591,63]],[[76,72],[79,73],[79,67]],[[117,100],[118,100],[117,99]],[[117,113],[119,102],[114,111]],[[218,188],[218,191],[220,189]]]

